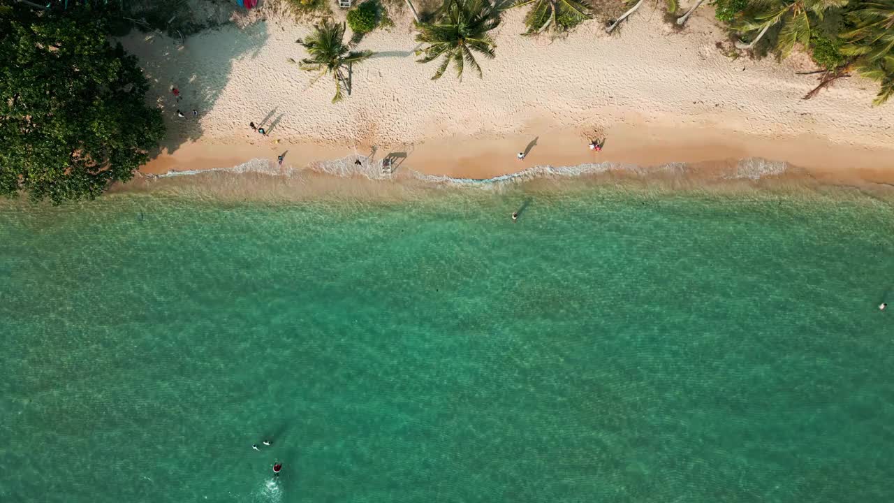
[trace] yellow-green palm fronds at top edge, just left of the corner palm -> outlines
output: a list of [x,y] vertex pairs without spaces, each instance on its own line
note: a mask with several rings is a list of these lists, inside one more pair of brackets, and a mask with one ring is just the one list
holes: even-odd
[[748,34],[757,31],[751,42],[738,40],[736,47],[750,49],[761,41],[767,30],[781,25],[775,49],[780,57],[786,57],[800,42],[805,47],[810,43],[810,32],[823,15],[830,9],[839,9],[848,4],[848,0],[763,0],[756,1],[746,9],[744,21],[737,28]]

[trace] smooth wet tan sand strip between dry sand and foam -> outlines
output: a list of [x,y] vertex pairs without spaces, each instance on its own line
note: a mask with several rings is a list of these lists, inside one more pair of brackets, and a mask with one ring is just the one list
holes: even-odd
[[[784,161],[806,174],[829,183],[894,183],[894,149],[839,146],[822,139],[762,138],[706,129],[647,128],[620,125],[605,134],[602,151],[588,149],[578,132],[553,130],[502,137],[454,136],[424,141],[415,146],[376,147],[374,159],[393,152],[405,155],[403,166],[424,175],[486,179],[517,173],[532,166],[578,166],[615,163],[661,166],[670,163],[764,158]],[[531,141],[536,145],[519,162],[516,154]],[[520,146],[519,146],[520,145]],[[163,175],[170,171],[219,169],[238,166],[252,158],[270,158],[289,151],[291,165],[305,167],[316,161],[368,156],[373,147],[337,147],[309,142],[281,141],[260,145],[238,143],[207,145],[201,141],[183,145],[173,155],[162,154],[141,172]],[[356,154],[355,154],[356,152]]]

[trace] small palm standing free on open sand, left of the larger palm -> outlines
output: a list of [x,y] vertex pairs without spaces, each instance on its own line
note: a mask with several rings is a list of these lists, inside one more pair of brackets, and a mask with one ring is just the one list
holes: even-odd
[[[350,44],[345,44],[343,38],[344,23],[335,24],[325,20],[316,25],[316,31],[308,38],[296,40],[308,49],[310,55],[309,58],[301,60],[301,70],[320,72],[320,77],[332,73],[335,80],[333,103],[342,100],[342,89],[348,91],[350,95],[350,66],[375,54],[373,51],[352,51]],[[295,62],[294,59],[289,59],[292,63]],[[345,77],[343,72],[345,67],[348,69],[348,77]]]

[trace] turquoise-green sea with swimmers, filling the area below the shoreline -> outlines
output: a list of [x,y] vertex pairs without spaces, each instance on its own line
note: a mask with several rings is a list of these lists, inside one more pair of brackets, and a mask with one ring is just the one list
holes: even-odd
[[894,501],[892,216],[611,186],[0,202],[0,501]]

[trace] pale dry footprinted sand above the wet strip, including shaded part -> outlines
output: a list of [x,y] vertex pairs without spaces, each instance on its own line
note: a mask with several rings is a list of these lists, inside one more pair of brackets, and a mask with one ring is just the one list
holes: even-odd
[[[662,21],[662,11],[644,6],[613,36],[598,21],[588,21],[552,41],[521,37],[523,15],[518,9],[504,14],[494,33],[496,59],[479,59],[485,78],[467,72],[461,82],[452,70],[440,81],[430,80],[436,64],[415,62],[414,33],[401,16],[396,28],[377,30],[360,43],[380,54],[355,68],[353,92],[337,104],[330,103],[331,77],[312,83],[314,74],[287,63],[305,55],[295,39],[310,30],[291,21],[228,26],[189,38],[184,47],[136,32],[122,43],[139,55],[152,81],[149,96],[164,107],[172,126],[166,145],[178,148],[186,140],[207,148],[270,143],[251,132],[249,121],[264,122],[283,143],[349,149],[411,149],[447,137],[454,144],[458,137],[579,137],[620,125],[710,128],[713,134],[765,139],[806,135],[851,149],[894,144],[894,104],[871,107],[874,82],[842,79],[803,100],[816,84],[816,75],[795,74],[814,69],[805,55],[781,64],[773,58],[732,60],[716,47],[727,38],[709,7],[682,32]],[[181,90],[179,104],[171,85]],[[178,119],[177,107],[188,116],[198,108],[198,124]],[[583,145],[581,138],[574,141]]]

